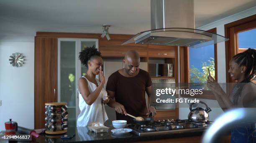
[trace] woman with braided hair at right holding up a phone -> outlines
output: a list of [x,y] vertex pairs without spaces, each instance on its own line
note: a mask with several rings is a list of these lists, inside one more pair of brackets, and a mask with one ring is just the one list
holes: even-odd
[[[211,76],[207,80],[207,86],[212,89],[220,106],[256,108],[256,84],[251,82],[256,77],[256,50],[249,48],[236,54],[229,63],[228,73],[237,81],[229,96]],[[231,143],[253,143],[256,141],[255,129],[253,122],[235,126],[231,131]]]

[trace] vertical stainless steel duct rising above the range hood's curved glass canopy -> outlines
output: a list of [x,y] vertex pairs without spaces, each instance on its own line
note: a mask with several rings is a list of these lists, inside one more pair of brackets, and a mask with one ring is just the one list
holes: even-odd
[[151,0],[151,30],[168,27],[195,29],[194,0]]

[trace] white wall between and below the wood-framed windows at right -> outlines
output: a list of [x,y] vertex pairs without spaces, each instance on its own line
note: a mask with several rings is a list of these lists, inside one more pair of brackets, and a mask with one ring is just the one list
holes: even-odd
[[[225,28],[224,28],[225,24],[234,22],[236,20],[243,19],[243,18],[251,16],[251,15],[255,15],[255,14],[256,14],[256,7],[252,7],[248,10],[239,12],[235,15],[230,15],[221,20],[212,22],[212,23],[204,25],[202,27],[198,27],[197,29],[210,30],[210,29],[216,27],[217,34],[225,36]],[[217,59],[218,59],[218,61],[217,61],[218,62],[218,82],[225,83],[226,82],[225,42],[220,42],[217,44]],[[225,89],[225,87],[223,87],[223,89]],[[209,113],[211,121],[214,121],[218,116],[220,116],[221,113],[223,113],[223,110],[220,108],[220,106],[218,105],[218,102],[216,100],[200,99],[200,101],[207,103],[210,108],[213,107],[213,108],[211,108],[212,111]],[[184,107],[185,105],[181,104],[179,106]],[[189,113],[188,108],[179,108],[179,118],[180,119],[187,119],[188,113]]]

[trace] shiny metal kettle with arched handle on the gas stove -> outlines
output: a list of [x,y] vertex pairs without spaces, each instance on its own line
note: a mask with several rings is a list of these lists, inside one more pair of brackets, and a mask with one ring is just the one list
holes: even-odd
[[[202,101],[199,101],[199,103],[201,104],[205,104],[205,102],[202,102]],[[207,104],[205,104],[205,109],[203,108],[200,108],[200,107],[197,107],[197,108],[194,108],[192,109],[192,106],[194,105],[195,103],[192,103],[190,104],[189,106],[189,110],[190,110],[190,113],[188,114],[188,119],[190,121],[200,121],[200,122],[205,122],[205,121],[208,121],[209,120],[209,112],[212,111],[208,106]]]

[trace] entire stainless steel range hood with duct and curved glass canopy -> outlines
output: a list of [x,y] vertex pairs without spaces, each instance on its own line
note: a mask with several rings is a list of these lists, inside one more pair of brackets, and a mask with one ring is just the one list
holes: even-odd
[[122,45],[134,42],[198,48],[227,40],[195,29],[194,0],[151,0],[151,30],[138,33]]

